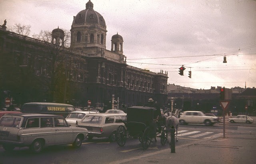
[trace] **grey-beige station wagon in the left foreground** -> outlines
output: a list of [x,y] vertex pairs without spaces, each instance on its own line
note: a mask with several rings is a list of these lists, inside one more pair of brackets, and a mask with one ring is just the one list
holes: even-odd
[[59,115],[14,113],[0,119],[0,144],[9,151],[28,146],[33,152],[41,152],[44,146],[56,144],[78,148],[87,134],[87,129],[70,127]]

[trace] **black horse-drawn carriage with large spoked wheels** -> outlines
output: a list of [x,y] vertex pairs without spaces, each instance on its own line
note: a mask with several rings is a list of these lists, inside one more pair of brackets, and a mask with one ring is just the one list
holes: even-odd
[[138,138],[143,149],[147,149],[156,137],[164,145],[166,137],[166,117],[158,117],[158,111],[154,107],[134,106],[127,108],[127,119],[124,125],[120,125],[116,132],[117,143],[124,146],[127,137]]

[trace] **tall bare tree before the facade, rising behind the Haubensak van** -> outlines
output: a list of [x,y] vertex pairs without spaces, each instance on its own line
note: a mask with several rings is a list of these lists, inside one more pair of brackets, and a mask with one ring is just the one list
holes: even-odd
[[[74,55],[69,47],[68,41],[70,41],[70,31],[62,29],[64,31],[64,40],[62,42],[52,42],[51,31],[40,31],[38,35],[34,35],[34,38],[44,42],[44,50],[47,51],[47,55],[44,55],[44,64],[42,64],[49,72],[49,79],[45,80],[45,85],[49,88],[49,100],[65,103],[66,90],[70,86],[67,84],[67,78],[70,74],[74,74],[78,68],[75,68],[73,61],[82,62],[83,59],[79,55]],[[73,73],[72,73],[73,72]],[[69,81],[70,82],[70,81]],[[60,95],[62,98],[60,98]]]

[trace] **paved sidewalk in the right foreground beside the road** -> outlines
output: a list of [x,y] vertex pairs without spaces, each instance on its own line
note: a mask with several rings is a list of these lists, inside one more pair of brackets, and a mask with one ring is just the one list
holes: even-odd
[[175,152],[161,150],[111,164],[254,164],[256,133],[226,133],[226,138],[194,141],[178,146]]

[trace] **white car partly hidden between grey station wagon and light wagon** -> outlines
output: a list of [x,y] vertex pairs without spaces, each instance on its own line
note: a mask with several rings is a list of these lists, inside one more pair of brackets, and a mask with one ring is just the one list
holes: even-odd
[[80,122],[85,115],[89,113],[97,113],[96,111],[73,111],[68,114],[66,121],[70,126],[76,126],[76,121]]

